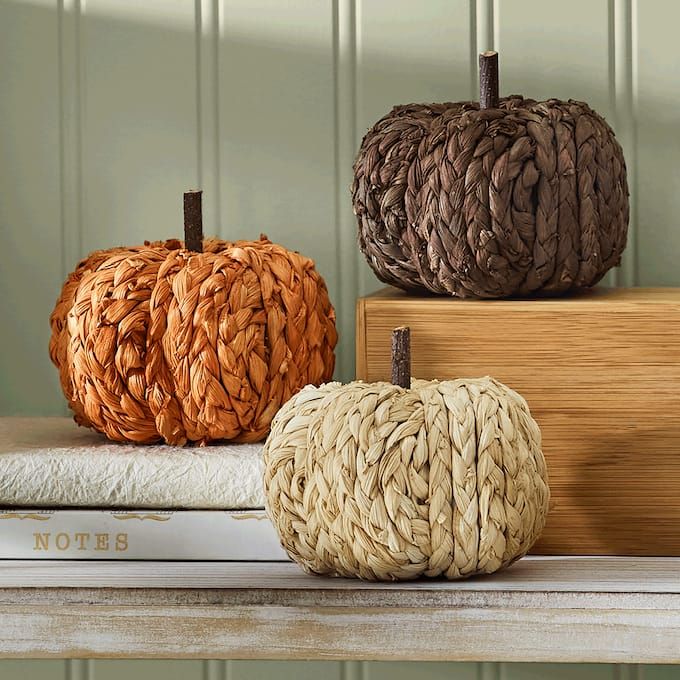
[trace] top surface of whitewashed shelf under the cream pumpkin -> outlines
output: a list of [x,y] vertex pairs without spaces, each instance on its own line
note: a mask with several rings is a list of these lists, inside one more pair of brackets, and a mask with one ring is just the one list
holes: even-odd
[[442,597],[462,592],[680,594],[680,558],[529,556],[484,578],[403,583],[308,576],[295,564],[276,562],[0,561],[0,588],[26,587],[393,591]]

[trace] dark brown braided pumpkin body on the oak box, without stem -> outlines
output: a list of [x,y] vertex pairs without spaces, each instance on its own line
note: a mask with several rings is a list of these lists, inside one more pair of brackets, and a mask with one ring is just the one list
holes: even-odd
[[564,293],[597,283],[626,245],[621,146],[572,100],[397,106],[363,139],[352,197],[369,265],[406,290]]

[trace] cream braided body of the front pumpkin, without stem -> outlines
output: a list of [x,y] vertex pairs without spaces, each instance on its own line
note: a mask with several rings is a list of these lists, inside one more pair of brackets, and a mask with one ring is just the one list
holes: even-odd
[[490,378],[308,387],[265,443],[267,509],[308,572],[494,572],[545,524],[540,439],[524,399]]

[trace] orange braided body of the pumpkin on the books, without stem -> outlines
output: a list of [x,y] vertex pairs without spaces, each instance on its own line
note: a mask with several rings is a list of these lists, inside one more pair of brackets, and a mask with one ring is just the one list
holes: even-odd
[[116,441],[257,441],[333,374],[335,313],[312,260],[262,237],[97,251],[68,277],[50,356],[76,421]]

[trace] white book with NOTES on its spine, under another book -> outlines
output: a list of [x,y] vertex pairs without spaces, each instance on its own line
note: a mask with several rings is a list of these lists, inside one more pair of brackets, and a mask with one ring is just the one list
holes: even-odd
[[264,510],[0,509],[0,559],[288,560]]

